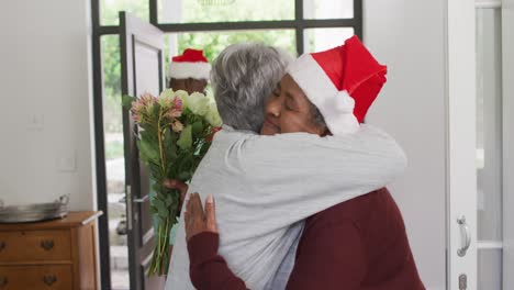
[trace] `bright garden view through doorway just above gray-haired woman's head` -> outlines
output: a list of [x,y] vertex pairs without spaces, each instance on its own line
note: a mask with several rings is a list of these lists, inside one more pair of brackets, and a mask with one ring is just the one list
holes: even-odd
[[203,49],[209,63],[212,63],[230,44],[245,42],[264,43],[266,45],[280,47],[291,55],[297,55],[295,34],[293,30],[172,33],[166,35],[165,42],[167,80],[169,59],[182,53],[188,47]]

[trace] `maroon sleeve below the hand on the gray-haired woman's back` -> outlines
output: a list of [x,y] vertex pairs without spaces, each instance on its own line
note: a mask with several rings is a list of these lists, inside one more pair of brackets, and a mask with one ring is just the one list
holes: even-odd
[[236,277],[225,259],[217,255],[220,236],[203,232],[188,242],[189,274],[198,290],[247,290],[245,282]]

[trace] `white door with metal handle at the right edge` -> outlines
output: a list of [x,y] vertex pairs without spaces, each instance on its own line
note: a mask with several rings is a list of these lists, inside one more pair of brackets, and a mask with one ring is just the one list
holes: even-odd
[[513,2],[448,1],[448,289],[513,289]]

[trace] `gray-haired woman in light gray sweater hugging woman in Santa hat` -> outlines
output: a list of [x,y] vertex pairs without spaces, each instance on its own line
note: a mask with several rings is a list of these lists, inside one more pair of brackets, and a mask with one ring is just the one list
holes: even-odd
[[[372,126],[324,136],[326,124],[312,103],[304,103],[303,116],[316,122],[294,114],[273,119],[272,107],[287,105],[273,100],[283,97],[277,83],[289,59],[259,44],[236,44],[220,54],[211,78],[224,125],[189,187],[215,199],[219,253],[253,290],[270,287],[304,219],[384,187],[406,165],[394,140]],[[313,177],[316,182],[309,181]],[[189,263],[182,215],[166,289],[194,289]],[[292,264],[284,265],[281,270],[291,271]]]

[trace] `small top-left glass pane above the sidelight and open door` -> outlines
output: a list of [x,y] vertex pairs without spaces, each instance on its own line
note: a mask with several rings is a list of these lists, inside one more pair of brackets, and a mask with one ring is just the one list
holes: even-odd
[[148,21],[148,0],[101,0],[100,1],[100,24],[118,25],[120,23],[119,12],[126,11],[138,19]]

